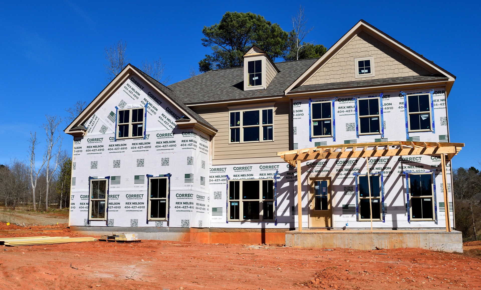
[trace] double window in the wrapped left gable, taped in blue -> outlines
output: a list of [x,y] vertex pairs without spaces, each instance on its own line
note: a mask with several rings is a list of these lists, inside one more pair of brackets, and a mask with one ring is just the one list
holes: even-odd
[[143,137],[144,108],[118,110],[117,114],[117,139]]

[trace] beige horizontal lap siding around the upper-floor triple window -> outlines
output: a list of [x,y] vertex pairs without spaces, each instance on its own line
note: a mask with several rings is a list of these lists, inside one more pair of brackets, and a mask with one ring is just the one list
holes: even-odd
[[270,142],[229,144],[227,107],[194,109],[194,111],[218,130],[214,137],[213,159],[277,157],[277,152],[289,150],[289,104],[289,102],[274,104],[274,141]]

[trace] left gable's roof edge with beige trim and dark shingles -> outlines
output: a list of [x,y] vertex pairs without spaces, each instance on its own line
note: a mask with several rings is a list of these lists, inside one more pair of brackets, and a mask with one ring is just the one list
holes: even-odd
[[114,92],[116,88],[118,88],[119,85],[121,85],[128,76],[132,74],[132,72],[136,72],[139,74],[141,78],[144,79],[147,83],[152,85],[155,89],[157,89],[164,97],[169,98],[170,101],[177,106],[179,110],[181,110],[186,116],[181,118],[182,122],[185,121],[194,121],[197,122],[203,127],[206,127],[208,131],[212,131],[213,133],[217,132],[217,129],[215,129],[214,126],[212,126],[209,122],[205,121],[201,116],[199,116],[196,112],[194,112],[192,109],[187,107],[182,101],[177,97],[177,94],[173,92],[171,89],[167,88],[165,85],[162,85],[155,79],[153,79],[151,76],[146,74],[145,72],[142,72],[139,70],[137,67],[133,66],[132,64],[127,64],[127,66],[107,85],[101,92],[100,94],[95,97],[90,104],[83,109],[83,111],[76,117],[74,121],[72,121],[67,128],[65,128],[63,131],[67,134],[82,134],[85,133],[86,130],[82,130],[80,127],[81,124],[83,124],[85,121],[87,121],[90,116],[100,108],[100,106],[104,103],[104,101],[110,97],[110,95]]

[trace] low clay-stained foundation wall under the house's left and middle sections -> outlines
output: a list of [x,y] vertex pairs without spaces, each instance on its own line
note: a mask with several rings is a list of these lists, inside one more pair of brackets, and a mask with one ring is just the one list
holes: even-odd
[[223,244],[277,244],[283,245],[289,229],[222,229],[222,228],[154,228],[154,227],[80,227],[71,226],[73,232],[98,237],[112,234],[138,234],[141,240]]

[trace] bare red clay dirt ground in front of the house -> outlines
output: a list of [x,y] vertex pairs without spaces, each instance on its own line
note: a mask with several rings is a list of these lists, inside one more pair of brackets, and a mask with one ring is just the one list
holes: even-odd
[[[0,237],[39,235],[81,236],[66,229]],[[171,241],[0,246],[0,289],[480,289],[481,243],[468,247],[449,254]]]

